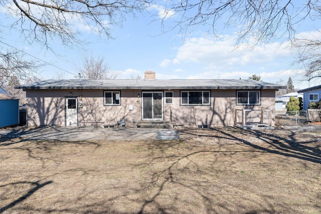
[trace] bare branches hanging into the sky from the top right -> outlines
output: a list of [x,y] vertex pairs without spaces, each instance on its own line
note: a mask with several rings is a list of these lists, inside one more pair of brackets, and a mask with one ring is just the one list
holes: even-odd
[[[168,2],[169,3],[169,2]],[[169,3],[170,4],[170,3]],[[249,0],[180,0],[165,12],[164,23],[169,16],[178,16],[176,27],[190,33],[196,27],[208,26],[209,33],[220,35],[219,24],[238,29],[238,42],[252,38],[258,42],[280,38],[289,39],[305,19],[319,20],[321,3],[303,0],[249,1]]]

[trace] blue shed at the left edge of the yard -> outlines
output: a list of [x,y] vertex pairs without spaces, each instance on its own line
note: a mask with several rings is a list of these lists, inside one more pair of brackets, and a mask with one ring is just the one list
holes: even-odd
[[0,128],[19,124],[19,99],[0,87]]

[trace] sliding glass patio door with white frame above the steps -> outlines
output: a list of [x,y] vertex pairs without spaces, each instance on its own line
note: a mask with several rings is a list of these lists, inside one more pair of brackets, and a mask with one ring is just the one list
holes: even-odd
[[163,92],[142,92],[142,119],[163,119]]

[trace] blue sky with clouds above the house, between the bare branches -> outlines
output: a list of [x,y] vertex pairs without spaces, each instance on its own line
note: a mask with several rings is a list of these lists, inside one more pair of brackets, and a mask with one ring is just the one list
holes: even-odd
[[[157,10],[153,9],[153,12],[157,13]],[[154,71],[156,79],[247,79],[256,74],[270,83],[279,80],[286,83],[291,77],[298,89],[319,85],[317,81],[300,81],[302,76],[290,67],[295,55],[288,48],[287,41],[260,44],[253,50],[244,44],[234,50],[237,29],[226,29],[220,38],[216,38],[207,34],[208,29],[199,27],[183,37],[177,29],[162,33],[161,22],[155,19],[148,15],[137,15],[134,20],[128,17],[122,27],[110,27],[112,40],[101,38],[82,25],[75,25],[82,33],[81,39],[89,44],[70,48],[55,40],[50,43],[55,54],[43,45],[28,44],[15,30],[4,29],[0,39],[52,64],[42,68],[40,76],[43,79],[52,79],[62,73],[65,79],[74,79],[82,64],[81,57],[93,55],[103,57],[110,71],[118,73],[117,79],[143,77],[145,71]],[[4,24],[15,18],[0,11],[0,20]],[[170,27],[171,24],[168,19],[166,25]],[[317,30],[313,22],[302,26],[297,29],[298,34]],[[26,58],[30,57],[27,55]]]

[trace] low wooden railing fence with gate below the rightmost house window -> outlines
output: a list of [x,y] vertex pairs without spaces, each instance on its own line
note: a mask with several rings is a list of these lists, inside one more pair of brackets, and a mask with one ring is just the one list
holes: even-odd
[[271,126],[271,109],[235,109],[234,125]]

